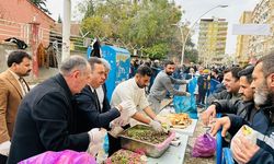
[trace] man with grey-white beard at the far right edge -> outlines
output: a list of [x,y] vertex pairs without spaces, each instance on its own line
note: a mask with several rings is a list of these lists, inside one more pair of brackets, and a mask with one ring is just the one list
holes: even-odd
[[[222,127],[221,136],[227,130],[239,130],[242,125],[249,125],[260,134],[256,144],[244,137],[235,137],[231,142],[231,152],[238,163],[274,163],[274,52],[262,57],[252,73],[251,87],[254,90],[254,102],[259,112],[254,115],[253,122],[249,124],[240,117],[222,117],[217,119],[212,129],[215,136]],[[262,124],[264,122],[264,124]],[[260,126],[266,125],[266,126]]]

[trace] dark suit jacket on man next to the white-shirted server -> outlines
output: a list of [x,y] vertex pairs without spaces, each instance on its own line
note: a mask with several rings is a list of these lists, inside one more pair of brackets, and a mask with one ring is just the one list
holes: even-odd
[[106,97],[105,87],[102,112],[96,107],[96,98],[89,85],[83,87],[80,94],[76,95],[78,132],[89,131],[92,128],[109,129],[110,122],[119,117],[116,108],[111,108]]

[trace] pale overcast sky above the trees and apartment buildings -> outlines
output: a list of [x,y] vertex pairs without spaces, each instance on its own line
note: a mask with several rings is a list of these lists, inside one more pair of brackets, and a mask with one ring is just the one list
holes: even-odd
[[[77,20],[77,4],[82,0],[70,0],[71,1],[71,15],[72,20]],[[201,17],[209,9],[226,4],[227,8],[217,8],[208,12],[203,19],[208,17],[221,17],[226,19],[228,22],[228,34],[227,34],[227,45],[226,54],[232,55],[236,52],[237,36],[232,35],[232,25],[239,23],[239,19],[243,11],[252,11],[256,3],[261,0],[175,0],[178,4],[184,10],[182,21],[190,21],[191,25]],[[47,8],[53,13],[52,17],[54,20],[58,19],[60,14],[62,17],[62,3],[64,0],[47,0]],[[194,35],[192,37],[193,42],[196,44],[198,38],[198,25],[194,25]]]

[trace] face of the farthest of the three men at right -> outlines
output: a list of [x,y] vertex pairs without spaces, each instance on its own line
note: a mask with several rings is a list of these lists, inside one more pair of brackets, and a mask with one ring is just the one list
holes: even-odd
[[224,84],[228,93],[238,93],[240,89],[239,80],[236,80],[232,77],[231,72],[227,72],[224,74]]

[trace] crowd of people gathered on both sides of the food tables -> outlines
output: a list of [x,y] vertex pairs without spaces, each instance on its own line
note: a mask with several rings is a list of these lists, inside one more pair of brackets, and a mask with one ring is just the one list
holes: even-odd
[[[0,73],[0,163],[18,163],[46,151],[87,151],[106,136],[112,155],[121,149],[117,134],[133,122],[162,131],[170,122],[158,116],[161,102],[167,96],[191,96],[174,85],[193,80],[196,105],[207,108],[201,118],[212,126],[213,136],[222,128],[221,136],[231,138],[242,125],[262,134],[256,144],[242,137],[226,140],[233,159],[274,162],[274,54],[243,69],[176,67],[170,60],[133,62],[130,79],[115,87],[111,99],[105,81],[112,68],[102,58],[71,56],[58,74],[30,90],[24,77],[31,72],[31,60],[25,51],[15,50]],[[216,119],[217,113],[222,117]]]

